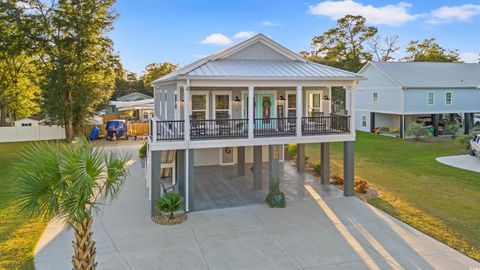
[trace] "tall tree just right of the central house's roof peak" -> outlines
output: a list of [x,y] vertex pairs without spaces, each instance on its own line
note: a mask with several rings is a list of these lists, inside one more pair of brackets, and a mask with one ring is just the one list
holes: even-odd
[[302,52],[307,59],[357,72],[372,59],[364,49],[378,30],[367,26],[362,16],[346,15],[337,20],[337,26],[312,39],[311,52]]

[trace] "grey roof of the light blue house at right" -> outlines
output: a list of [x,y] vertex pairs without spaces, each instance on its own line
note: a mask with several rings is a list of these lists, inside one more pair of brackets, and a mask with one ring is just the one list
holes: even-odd
[[[405,88],[479,88],[480,64],[438,62],[369,62]],[[367,67],[365,66],[359,72]]]

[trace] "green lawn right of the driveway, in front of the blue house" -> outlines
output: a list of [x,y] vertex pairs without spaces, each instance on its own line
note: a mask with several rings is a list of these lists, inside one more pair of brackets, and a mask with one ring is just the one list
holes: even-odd
[[[332,171],[342,172],[343,146],[332,145]],[[416,142],[358,132],[355,175],[382,192],[372,205],[480,260],[480,174],[438,163],[466,154],[454,140]],[[312,164],[320,146],[306,146]]]

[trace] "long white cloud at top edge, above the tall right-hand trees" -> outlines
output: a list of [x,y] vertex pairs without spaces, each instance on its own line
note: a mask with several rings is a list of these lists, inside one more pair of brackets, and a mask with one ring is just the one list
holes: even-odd
[[420,15],[409,13],[408,9],[412,4],[400,2],[393,5],[374,7],[372,5],[363,5],[361,3],[344,1],[324,1],[317,5],[309,6],[309,11],[314,15],[327,16],[332,20],[338,20],[347,14],[362,15],[367,22],[372,24],[386,24],[397,26],[410,21],[414,21]]

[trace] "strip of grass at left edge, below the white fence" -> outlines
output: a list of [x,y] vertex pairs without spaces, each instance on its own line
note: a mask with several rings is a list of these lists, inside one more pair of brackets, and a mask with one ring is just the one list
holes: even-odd
[[19,214],[8,192],[18,152],[28,143],[0,143],[0,269],[34,269],[33,251],[48,221]]

